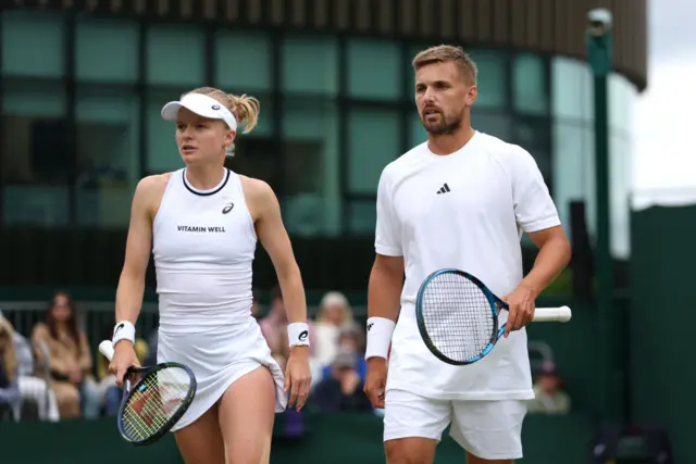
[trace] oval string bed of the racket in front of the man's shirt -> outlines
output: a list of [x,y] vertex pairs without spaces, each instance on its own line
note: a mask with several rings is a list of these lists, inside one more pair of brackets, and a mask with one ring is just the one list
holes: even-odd
[[456,362],[471,361],[490,343],[495,324],[485,293],[463,276],[444,273],[423,293],[423,323],[431,342]]

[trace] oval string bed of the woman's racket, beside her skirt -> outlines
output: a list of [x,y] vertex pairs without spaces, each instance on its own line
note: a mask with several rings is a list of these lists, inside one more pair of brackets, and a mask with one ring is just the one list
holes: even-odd
[[174,416],[185,402],[190,381],[179,367],[167,367],[147,374],[130,393],[123,410],[123,431],[134,441],[145,440]]

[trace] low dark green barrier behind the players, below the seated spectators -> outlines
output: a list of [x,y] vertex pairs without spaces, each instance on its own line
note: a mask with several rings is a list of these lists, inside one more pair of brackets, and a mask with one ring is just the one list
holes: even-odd
[[[273,464],[384,463],[382,419],[371,414],[307,415],[308,431],[299,439],[283,439],[277,422]],[[587,464],[592,428],[581,415],[527,416],[523,431],[522,464]],[[2,464],[166,464],[182,463],[172,436],[145,448],[124,442],[113,418],[69,421],[60,424],[0,424]],[[462,450],[447,438],[437,451],[437,464],[461,464]]]

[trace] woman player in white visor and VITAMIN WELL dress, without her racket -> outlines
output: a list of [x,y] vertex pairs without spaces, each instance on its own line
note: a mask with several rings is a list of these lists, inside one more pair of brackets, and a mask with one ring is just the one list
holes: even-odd
[[[134,324],[152,252],[158,362],[186,364],[198,383],[172,428],[187,464],[268,463],[274,413],[288,404],[299,411],[309,393],[304,289],[278,201],[266,183],[224,167],[237,125],[250,131],[259,110],[251,97],[210,87],[166,103],[162,117],[176,122],[186,167],[145,177],[133,199],[110,371],[121,383],[138,365]],[[251,314],[257,239],[275,266],[288,315],[285,375]]]

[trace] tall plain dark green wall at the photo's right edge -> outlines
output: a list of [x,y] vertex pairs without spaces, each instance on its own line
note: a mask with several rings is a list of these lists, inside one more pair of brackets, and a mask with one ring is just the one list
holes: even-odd
[[632,228],[633,415],[668,428],[678,463],[696,463],[696,206],[636,212]]

